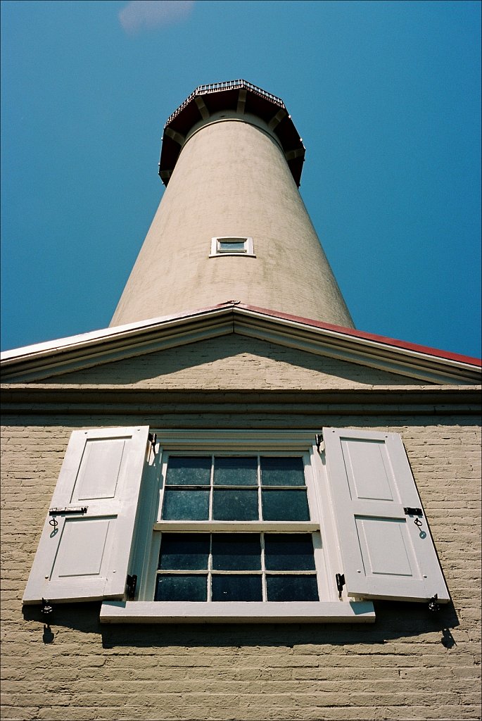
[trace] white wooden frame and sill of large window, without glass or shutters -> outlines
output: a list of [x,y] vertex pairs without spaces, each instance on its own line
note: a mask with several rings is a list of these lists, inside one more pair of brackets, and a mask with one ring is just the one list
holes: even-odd
[[[143,487],[138,516],[133,572],[138,575],[135,601],[104,601],[102,622],[373,622],[371,601],[354,601],[336,589],[335,575],[342,560],[321,456],[311,431],[157,430],[161,440]],[[310,521],[162,521],[161,476],[165,457],[185,455],[272,454],[302,456],[308,487]],[[320,601],[153,601],[162,531],[278,531],[313,534]]]

